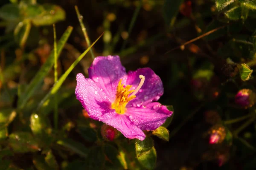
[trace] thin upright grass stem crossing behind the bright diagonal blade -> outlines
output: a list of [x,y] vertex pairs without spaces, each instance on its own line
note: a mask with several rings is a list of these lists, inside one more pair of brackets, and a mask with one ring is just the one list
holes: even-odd
[[[57,42],[56,42],[56,28],[55,24],[53,24],[53,38],[54,38],[54,83],[58,80],[58,71],[57,71]],[[54,95],[54,128],[58,129],[58,101],[57,95]]]

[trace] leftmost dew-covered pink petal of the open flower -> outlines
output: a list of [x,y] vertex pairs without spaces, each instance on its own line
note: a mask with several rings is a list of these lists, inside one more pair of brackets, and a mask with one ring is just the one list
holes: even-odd
[[90,118],[99,120],[99,117],[111,110],[108,96],[93,82],[79,73],[76,75],[76,98],[81,102]]

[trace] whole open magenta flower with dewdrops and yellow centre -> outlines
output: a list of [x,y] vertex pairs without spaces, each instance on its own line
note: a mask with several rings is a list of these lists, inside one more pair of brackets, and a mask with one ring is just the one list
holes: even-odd
[[143,130],[155,130],[172,115],[157,101],[163,83],[150,68],[125,72],[118,56],[96,57],[89,78],[76,75],[76,98],[91,119],[119,130],[129,139],[145,139]]

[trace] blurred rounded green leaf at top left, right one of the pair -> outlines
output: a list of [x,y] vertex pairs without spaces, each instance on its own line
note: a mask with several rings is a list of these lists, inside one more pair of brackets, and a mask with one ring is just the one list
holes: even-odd
[[32,19],[35,26],[52,25],[65,19],[65,11],[60,6],[47,4],[43,5],[43,8],[44,12]]

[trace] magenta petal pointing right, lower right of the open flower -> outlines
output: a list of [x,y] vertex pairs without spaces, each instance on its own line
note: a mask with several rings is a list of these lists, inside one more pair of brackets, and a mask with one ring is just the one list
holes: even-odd
[[141,107],[127,108],[126,115],[129,116],[132,122],[141,130],[155,130],[163,125],[166,119],[172,116],[172,111],[169,111],[166,106],[158,102],[149,103]]

